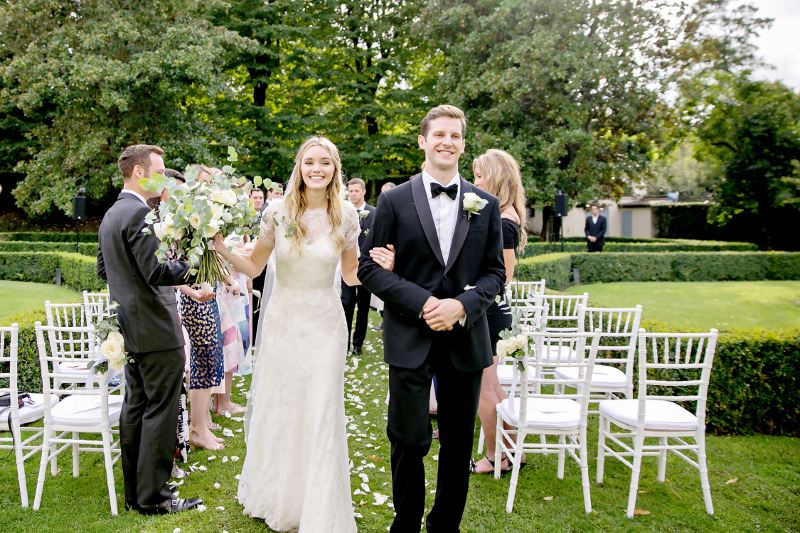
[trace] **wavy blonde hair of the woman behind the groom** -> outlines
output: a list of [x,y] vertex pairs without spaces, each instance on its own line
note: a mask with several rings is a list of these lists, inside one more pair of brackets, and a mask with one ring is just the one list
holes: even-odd
[[525,250],[528,232],[525,230],[527,211],[525,209],[525,188],[516,159],[504,150],[494,148],[472,161],[472,169],[481,171],[486,192],[497,196],[500,212],[509,207],[519,218],[519,250]]

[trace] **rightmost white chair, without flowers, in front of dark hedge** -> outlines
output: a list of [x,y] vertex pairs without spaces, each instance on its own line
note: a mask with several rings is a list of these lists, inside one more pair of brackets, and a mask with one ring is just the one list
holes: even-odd
[[[668,451],[700,472],[706,512],[714,514],[706,465],[705,420],[716,344],[716,329],[708,333],[647,333],[640,329],[638,399],[600,402],[597,483],[603,482],[606,454],[631,469],[628,518],[633,518],[636,510],[642,457],[658,457],[658,481],[663,483]],[[695,387],[697,392],[692,394]],[[672,394],[653,394],[665,390]],[[695,402],[694,413],[677,402]],[[622,431],[612,432],[612,424]],[[646,438],[657,438],[658,444],[645,444]],[[694,444],[686,438],[693,439]],[[606,439],[611,442],[606,443]],[[620,439],[633,439],[633,443],[628,445]],[[613,449],[612,443],[622,451]],[[685,455],[686,450],[694,453],[697,460]],[[626,457],[633,457],[633,462]]]

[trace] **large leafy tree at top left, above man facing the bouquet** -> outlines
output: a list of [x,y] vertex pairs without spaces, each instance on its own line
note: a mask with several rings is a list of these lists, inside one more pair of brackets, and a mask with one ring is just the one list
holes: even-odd
[[[51,119],[30,132],[37,148],[14,191],[32,214],[65,213],[78,187],[94,199],[121,185],[116,159],[159,144],[170,166],[213,161],[236,144],[214,108],[230,92],[221,58],[253,43],[201,15],[215,2],[18,0],[0,4],[0,98]],[[217,153],[219,152],[219,153]]]

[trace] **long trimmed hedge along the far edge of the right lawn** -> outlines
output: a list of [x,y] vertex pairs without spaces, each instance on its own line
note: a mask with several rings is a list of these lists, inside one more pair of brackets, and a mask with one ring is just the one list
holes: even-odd
[[[569,256],[566,264],[565,256]],[[620,281],[723,281],[800,279],[798,252],[674,252],[548,254],[521,259],[521,281],[547,280],[561,290],[570,285],[572,269],[581,283]],[[567,271],[569,275],[559,275]],[[553,275],[553,272],[556,272]]]

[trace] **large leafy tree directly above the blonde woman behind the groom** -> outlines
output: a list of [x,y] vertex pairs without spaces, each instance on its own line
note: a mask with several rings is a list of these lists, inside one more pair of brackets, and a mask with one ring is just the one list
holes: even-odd
[[[466,110],[468,156],[511,152],[529,200],[613,198],[646,174],[670,29],[644,0],[433,0],[437,99]],[[464,158],[469,174],[470,157]],[[547,216],[547,215],[546,215]]]

